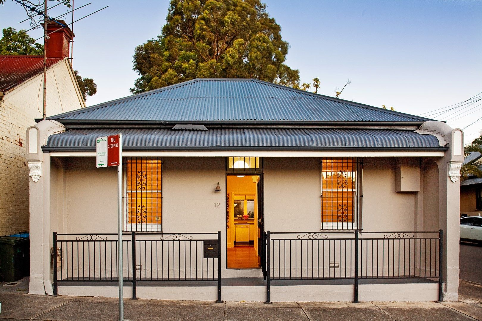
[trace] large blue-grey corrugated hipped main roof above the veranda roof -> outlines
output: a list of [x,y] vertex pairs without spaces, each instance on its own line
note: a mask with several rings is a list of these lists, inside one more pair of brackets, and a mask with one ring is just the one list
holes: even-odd
[[50,119],[63,123],[430,120],[257,79],[194,79]]

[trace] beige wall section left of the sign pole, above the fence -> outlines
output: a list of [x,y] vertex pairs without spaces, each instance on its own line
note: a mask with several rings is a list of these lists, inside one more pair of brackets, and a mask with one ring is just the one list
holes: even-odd
[[116,233],[117,168],[96,168],[94,157],[61,157],[52,164],[51,232]]

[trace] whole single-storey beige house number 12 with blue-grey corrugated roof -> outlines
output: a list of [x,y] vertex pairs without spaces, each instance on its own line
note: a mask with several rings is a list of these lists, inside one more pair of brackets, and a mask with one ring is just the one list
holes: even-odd
[[462,131],[255,79],[28,128],[30,293],[117,295],[118,133],[126,297],[457,300]]

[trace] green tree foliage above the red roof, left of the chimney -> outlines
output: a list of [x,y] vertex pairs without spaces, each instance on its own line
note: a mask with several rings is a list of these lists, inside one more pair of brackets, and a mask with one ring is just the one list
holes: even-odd
[[15,31],[8,27],[2,29],[0,54],[2,55],[43,55],[43,45],[35,42],[25,30]]

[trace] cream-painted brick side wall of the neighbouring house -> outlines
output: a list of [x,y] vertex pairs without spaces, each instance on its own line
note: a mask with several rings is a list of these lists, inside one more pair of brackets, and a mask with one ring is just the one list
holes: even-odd
[[[42,117],[42,79],[28,80],[0,101],[0,236],[29,230],[26,130]],[[56,64],[47,73],[47,116],[81,107],[66,62]]]

